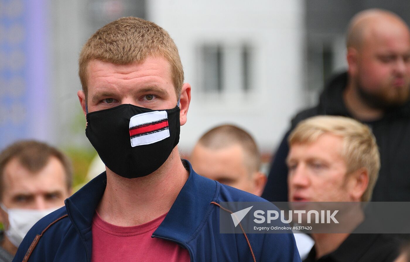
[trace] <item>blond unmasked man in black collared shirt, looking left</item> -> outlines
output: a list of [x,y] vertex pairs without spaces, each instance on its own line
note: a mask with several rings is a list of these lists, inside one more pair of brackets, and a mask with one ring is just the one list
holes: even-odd
[[[380,157],[366,125],[343,116],[314,116],[299,123],[288,142],[290,202],[371,199]],[[311,234],[315,243],[304,262],[392,262],[397,257],[399,243],[391,236],[352,233],[366,224],[363,210],[350,208],[347,216],[344,230],[349,232]]]

